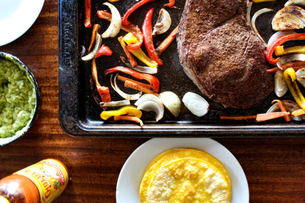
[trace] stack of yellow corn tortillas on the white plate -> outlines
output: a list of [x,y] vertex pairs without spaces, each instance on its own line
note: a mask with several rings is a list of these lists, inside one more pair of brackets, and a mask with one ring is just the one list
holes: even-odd
[[231,183],[225,167],[195,149],[172,149],[147,167],[140,187],[141,203],[228,203]]

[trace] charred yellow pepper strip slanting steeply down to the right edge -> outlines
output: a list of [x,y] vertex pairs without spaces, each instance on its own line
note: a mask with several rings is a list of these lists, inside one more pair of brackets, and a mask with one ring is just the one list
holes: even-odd
[[296,83],[295,71],[290,67],[284,71],[283,76],[294,100],[302,109],[305,109],[305,98]]

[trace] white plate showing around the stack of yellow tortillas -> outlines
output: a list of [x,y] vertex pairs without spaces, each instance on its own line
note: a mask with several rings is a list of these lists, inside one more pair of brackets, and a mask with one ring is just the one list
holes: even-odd
[[140,184],[148,164],[162,152],[173,148],[193,148],[216,157],[231,179],[231,203],[249,202],[245,173],[233,154],[209,138],[155,138],[138,147],[126,160],[116,184],[116,203],[140,203]]

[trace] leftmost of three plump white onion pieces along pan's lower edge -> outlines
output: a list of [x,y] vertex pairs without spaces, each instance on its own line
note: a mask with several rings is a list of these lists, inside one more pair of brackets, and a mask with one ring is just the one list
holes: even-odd
[[144,94],[136,101],[135,105],[139,110],[154,111],[157,122],[163,118],[164,106],[161,100],[154,94]]

